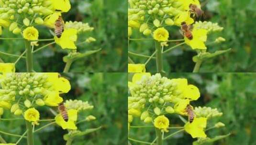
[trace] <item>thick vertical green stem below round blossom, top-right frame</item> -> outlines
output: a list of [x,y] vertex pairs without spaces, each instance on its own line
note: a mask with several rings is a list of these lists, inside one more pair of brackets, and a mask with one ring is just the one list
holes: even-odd
[[156,48],[156,69],[157,73],[164,73],[163,71],[163,56],[162,56],[162,49],[161,44],[158,41],[155,41],[155,48]]

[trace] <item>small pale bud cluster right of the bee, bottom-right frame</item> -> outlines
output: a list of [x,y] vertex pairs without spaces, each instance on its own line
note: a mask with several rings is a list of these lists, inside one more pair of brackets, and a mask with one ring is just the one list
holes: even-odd
[[213,117],[219,117],[222,116],[223,113],[219,112],[217,108],[211,108],[211,107],[195,107],[194,113],[197,117],[206,117],[206,118],[213,118]]

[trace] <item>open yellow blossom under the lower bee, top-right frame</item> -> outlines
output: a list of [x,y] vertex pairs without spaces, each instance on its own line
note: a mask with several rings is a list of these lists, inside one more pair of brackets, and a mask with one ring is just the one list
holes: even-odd
[[192,49],[207,49],[204,42],[207,40],[207,30],[194,29],[192,30],[193,39],[189,40],[184,37],[185,43],[188,44]]

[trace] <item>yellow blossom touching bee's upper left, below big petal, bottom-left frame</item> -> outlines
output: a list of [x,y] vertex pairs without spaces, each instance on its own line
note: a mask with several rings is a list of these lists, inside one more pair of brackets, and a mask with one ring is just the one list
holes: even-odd
[[48,106],[58,106],[59,103],[63,102],[63,98],[59,96],[57,91],[45,90],[44,93],[44,102]]

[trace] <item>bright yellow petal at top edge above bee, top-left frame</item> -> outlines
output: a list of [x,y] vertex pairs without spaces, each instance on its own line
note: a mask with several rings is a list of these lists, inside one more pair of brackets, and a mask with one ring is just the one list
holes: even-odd
[[55,10],[67,12],[71,8],[69,0],[51,0],[51,2]]

